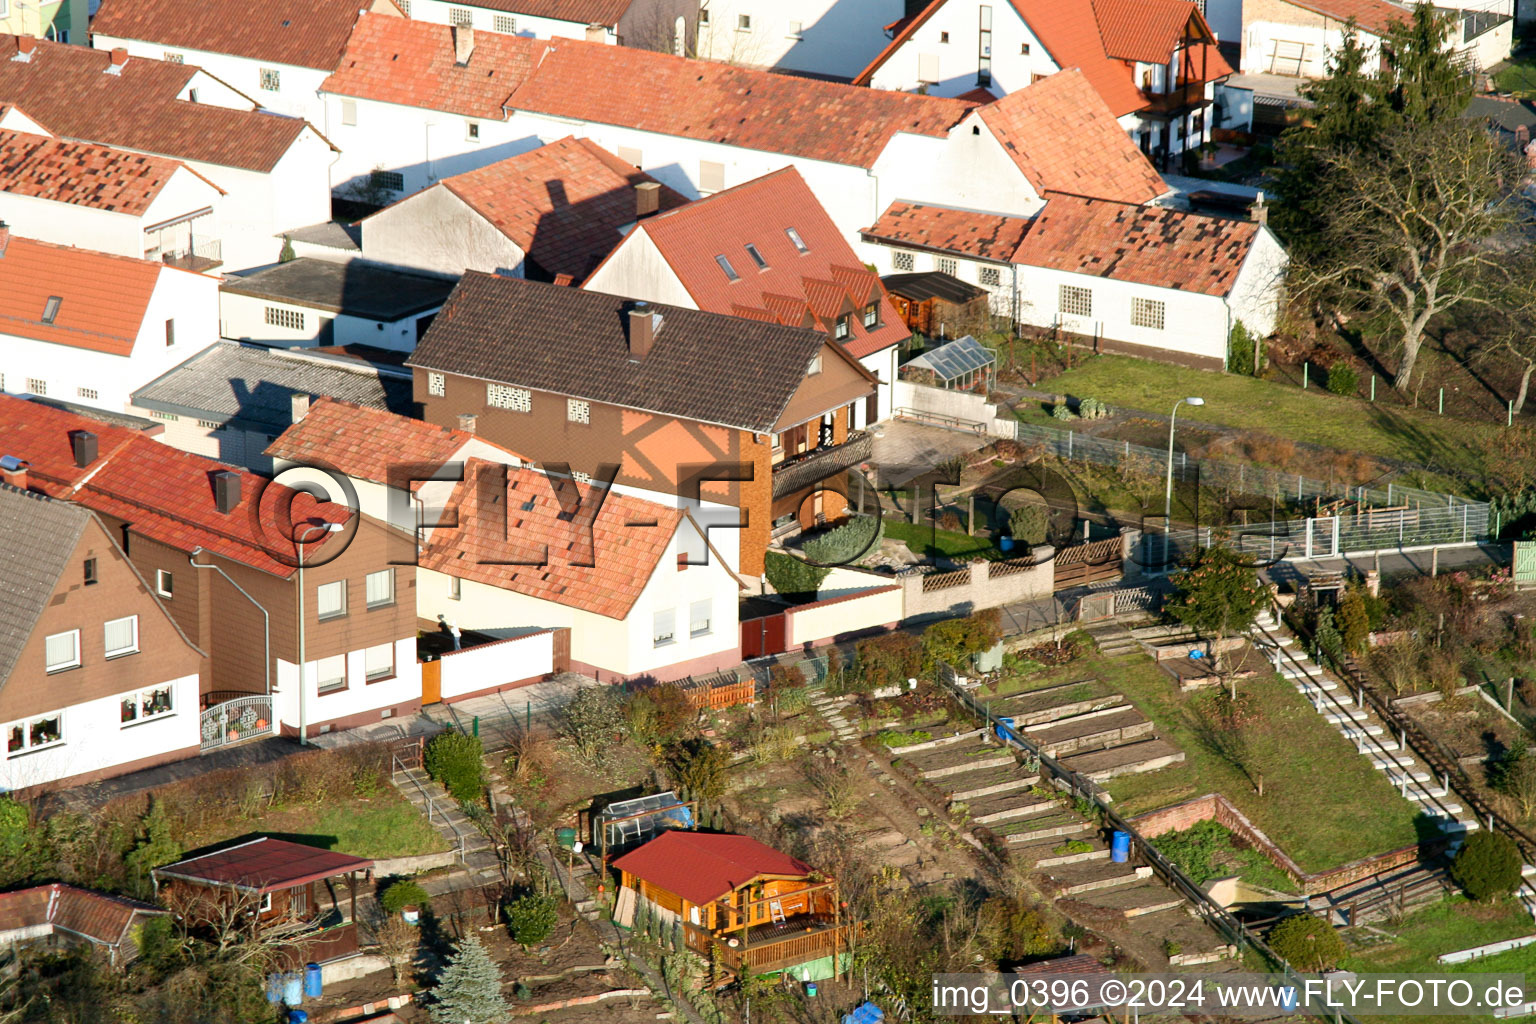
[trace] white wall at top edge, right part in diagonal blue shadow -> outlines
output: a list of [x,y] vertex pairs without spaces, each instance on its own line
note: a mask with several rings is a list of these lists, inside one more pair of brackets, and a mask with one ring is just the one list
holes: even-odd
[[[885,49],[902,0],[708,0],[699,57],[852,78]],[[740,15],[751,31],[739,29]],[[800,31],[793,32],[793,23]],[[972,40],[974,41],[974,40]]]

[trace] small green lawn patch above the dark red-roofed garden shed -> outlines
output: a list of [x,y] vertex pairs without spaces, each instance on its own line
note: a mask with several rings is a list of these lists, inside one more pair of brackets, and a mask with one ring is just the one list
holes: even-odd
[[427,824],[427,818],[392,789],[369,798],[269,808],[190,837],[186,846],[195,849],[258,832],[375,860],[436,854],[449,847],[438,831]]

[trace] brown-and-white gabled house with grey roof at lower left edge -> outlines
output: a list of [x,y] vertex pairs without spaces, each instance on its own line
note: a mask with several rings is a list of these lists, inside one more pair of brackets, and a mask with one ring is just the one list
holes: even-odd
[[207,657],[94,514],[0,456],[0,792],[198,752]]

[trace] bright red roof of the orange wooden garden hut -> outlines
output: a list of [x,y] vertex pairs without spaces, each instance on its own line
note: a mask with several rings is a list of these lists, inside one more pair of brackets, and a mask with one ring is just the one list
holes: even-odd
[[645,883],[696,906],[719,900],[759,875],[803,878],[811,866],[746,835],[673,829],[613,861]]

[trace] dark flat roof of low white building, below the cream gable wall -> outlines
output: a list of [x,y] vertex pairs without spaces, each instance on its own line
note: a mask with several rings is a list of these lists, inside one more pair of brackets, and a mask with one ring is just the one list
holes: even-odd
[[300,258],[230,278],[220,290],[390,322],[438,309],[453,290],[453,281],[389,270],[356,259],[333,263]]

